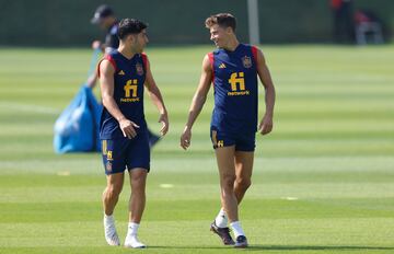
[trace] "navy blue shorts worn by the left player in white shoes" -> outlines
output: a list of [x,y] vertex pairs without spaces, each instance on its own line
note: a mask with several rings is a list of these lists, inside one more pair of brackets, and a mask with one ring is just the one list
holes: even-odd
[[150,149],[148,131],[139,132],[135,138],[102,140],[102,154],[105,174],[121,173],[135,168],[150,170]]

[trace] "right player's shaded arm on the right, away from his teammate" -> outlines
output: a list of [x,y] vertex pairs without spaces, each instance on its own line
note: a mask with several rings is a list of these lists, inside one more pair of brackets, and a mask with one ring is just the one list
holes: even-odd
[[258,126],[262,135],[269,134],[273,130],[273,117],[275,105],[275,86],[271,76],[266,65],[262,50],[257,50],[257,73],[265,89],[266,112]]

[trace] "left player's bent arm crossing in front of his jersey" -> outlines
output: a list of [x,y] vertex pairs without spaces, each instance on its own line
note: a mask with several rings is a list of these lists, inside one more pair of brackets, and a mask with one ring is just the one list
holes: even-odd
[[106,59],[102,60],[100,64],[100,88],[103,105],[117,119],[123,135],[127,138],[134,138],[137,135],[135,128],[139,128],[139,126],[125,117],[114,100],[114,73],[113,65]]

